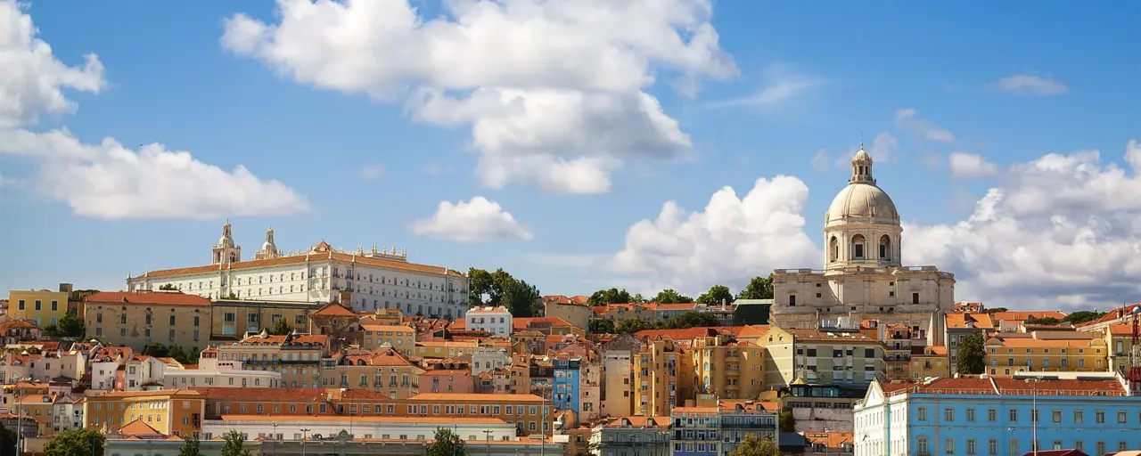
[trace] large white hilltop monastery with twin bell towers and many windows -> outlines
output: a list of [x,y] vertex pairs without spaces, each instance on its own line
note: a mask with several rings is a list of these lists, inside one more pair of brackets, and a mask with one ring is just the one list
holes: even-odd
[[229,221],[211,249],[209,266],[148,271],[127,279],[128,291],[163,285],[208,299],[341,302],[355,310],[399,309],[405,315],[462,317],[468,303],[468,277],[438,266],[415,264],[407,254],[357,247],[355,253],[322,242],[302,252],[282,252],[274,231],[254,259],[242,261]]

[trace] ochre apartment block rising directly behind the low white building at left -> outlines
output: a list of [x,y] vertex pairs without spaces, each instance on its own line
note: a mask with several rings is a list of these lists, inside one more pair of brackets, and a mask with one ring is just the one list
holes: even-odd
[[243,369],[280,373],[282,386],[288,388],[318,388],[321,359],[327,355],[327,335],[297,333],[269,335],[262,331],[218,347],[221,361],[242,361]]

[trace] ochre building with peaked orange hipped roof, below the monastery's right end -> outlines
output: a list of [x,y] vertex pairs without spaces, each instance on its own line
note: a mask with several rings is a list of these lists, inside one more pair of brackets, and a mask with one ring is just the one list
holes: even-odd
[[322,366],[322,388],[366,389],[393,399],[405,399],[420,393],[420,374],[424,369],[391,347],[373,352],[333,356],[333,366]]

